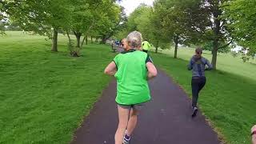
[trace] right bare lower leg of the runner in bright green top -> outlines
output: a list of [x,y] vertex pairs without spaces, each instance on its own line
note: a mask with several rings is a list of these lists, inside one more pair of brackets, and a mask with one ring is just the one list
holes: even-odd
[[130,110],[130,118],[129,118],[129,122],[128,122],[128,126],[127,126],[127,135],[130,136],[136,125],[137,125],[137,116],[138,116],[138,110],[132,108]]

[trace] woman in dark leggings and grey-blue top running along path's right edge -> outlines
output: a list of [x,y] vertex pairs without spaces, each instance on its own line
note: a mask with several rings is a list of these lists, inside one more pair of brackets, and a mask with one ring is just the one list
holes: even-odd
[[[206,68],[206,65],[208,66]],[[205,70],[212,70],[213,66],[210,62],[202,57],[202,49],[197,48],[195,55],[190,59],[188,70],[192,70],[192,117],[195,117],[198,112],[198,94],[200,90],[206,85]]]

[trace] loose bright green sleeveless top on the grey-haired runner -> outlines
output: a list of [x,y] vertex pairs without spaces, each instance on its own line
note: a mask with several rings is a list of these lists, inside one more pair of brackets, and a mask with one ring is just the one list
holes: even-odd
[[134,105],[150,100],[147,82],[146,62],[152,62],[148,54],[139,50],[129,50],[114,58],[117,66],[117,97],[120,105]]

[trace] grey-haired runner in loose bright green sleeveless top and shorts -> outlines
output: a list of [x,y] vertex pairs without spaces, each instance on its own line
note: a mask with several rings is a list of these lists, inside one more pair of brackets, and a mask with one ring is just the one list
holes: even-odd
[[[157,75],[157,70],[148,54],[140,51],[142,34],[131,32],[127,38],[127,50],[118,54],[106,67],[105,74],[117,79],[118,130],[115,144],[129,143],[136,124],[138,107],[150,101],[147,80]],[[125,134],[126,133],[126,134]]]

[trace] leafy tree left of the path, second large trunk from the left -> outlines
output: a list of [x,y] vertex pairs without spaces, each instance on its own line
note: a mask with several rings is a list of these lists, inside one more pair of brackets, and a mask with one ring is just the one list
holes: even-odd
[[[113,5],[115,1],[74,0],[72,2],[74,11],[72,12],[70,30],[72,30],[76,36],[77,47],[80,48],[90,30],[93,30],[95,27],[99,26],[102,19],[110,18],[106,15],[110,13],[110,11],[114,10]],[[113,9],[111,10],[111,8]],[[85,38],[81,43],[82,35],[84,35]]]

